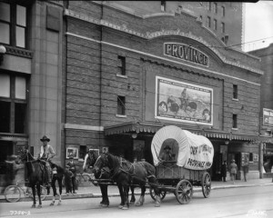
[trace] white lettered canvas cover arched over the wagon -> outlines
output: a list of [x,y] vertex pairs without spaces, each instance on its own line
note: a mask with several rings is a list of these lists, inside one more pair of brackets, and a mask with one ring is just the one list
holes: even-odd
[[[151,150],[154,163],[159,163],[158,157],[162,153],[162,145],[169,139],[174,139],[177,146],[172,146],[172,152],[177,154],[177,165],[190,170],[207,170],[213,162],[214,148],[207,137],[192,134],[175,125],[161,128],[155,134]],[[177,148],[176,148],[177,147]]]

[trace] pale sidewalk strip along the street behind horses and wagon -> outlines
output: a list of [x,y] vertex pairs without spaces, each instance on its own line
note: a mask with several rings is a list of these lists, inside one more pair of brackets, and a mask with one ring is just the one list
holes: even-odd
[[[249,180],[248,182],[236,180],[235,184],[233,184],[230,181],[227,181],[226,183],[212,181],[211,190],[249,187],[249,186],[263,186],[263,185],[273,185],[272,178],[252,179],[252,180]],[[196,187],[196,186],[194,187],[194,192],[201,192],[201,190],[202,190],[201,187]],[[140,194],[140,189],[136,188],[135,193],[136,195]],[[149,194],[148,189],[146,193]],[[51,194],[52,194],[52,189],[50,190],[50,195],[46,196],[45,201],[52,200]],[[119,196],[116,185],[108,186],[108,196],[109,197]],[[100,188],[99,186],[94,186],[94,185],[90,187],[78,187],[78,190],[76,190],[76,194],[70,193],[69,195],[66,195],[65,189],[63,189],[63,193],[62,193],[62,199],[100,198],[100,197],[101,197]],[[32,199],[29,197],[22,197],[20,201],[26,202],[26,201],[32,201]],[[0,203],[6,203],[5,196],[3,193],[0,194]]]

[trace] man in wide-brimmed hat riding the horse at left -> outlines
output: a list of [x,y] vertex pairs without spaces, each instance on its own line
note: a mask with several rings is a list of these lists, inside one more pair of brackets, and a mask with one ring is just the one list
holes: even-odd
[[43,138],[40,139],[40,141],[43,142],[43,145],[41,146],[41,153],[39,154],[39,156],[40,156],[40,160],[45,161],[45,177],[46,177],[47,188],[49,188],[51,183],[50,159],[53,158],[56,154],[52,146],[48,144],[48,142],[50,141],[49,138],[47,138],[44,135]]

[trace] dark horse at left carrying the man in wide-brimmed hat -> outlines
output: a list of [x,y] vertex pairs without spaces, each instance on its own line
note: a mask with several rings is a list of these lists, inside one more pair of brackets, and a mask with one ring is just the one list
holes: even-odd
[[[45,164],[43,164],[42,160],[35,160],[32,154],[28,152],[28,150],[23,149],[21,151],[21,154],[18,156],[18,159],[21,160],[23,163],[25,163],[25,170],[26,170],[26,177],[29,181],[29,186],[32,188],[33,193],[33,205],[32,207],[35,208],[36,200],[35,200],[35,190],[37,190],[39,205],[38,208],[42,207],[42,201],[41,201],[41,185],[45,183]],[[17,160],[17,163],[19,163],[19,160]],[[52,163],[57,168],[57,173],[62,174],[64,171],[63,168],[60,166],[57,166],[55,163]],[[56,175],[59,176],[59,175]],[[62,181],[62,180],[60,180]],[[53,191],[54,191],[54,199],[56,195],[56,186],[55,181],[52,183]],[[62,184],[59,183],[60,190],[62,189]]]

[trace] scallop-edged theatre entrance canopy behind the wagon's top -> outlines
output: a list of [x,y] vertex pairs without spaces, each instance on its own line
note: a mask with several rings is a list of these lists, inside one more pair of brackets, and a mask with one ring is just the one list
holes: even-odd
[[[157,131],[164,126],[165,126],[164,124],[148,124],[148,123],[131,122],[126,124],[106,126],[104,130],[106,135],[133,134],[133,133],[156,134]],[[178,127],[182,128],[182,126],[178,126]],[[230,133],[230,132],[210,130],[210,129],[200,130],[200,129],[187,128],[185,130],[191,132],[192,134],[204,135],[207,138],[238,140],[238,141],[257,141],[261,143],[273,142],[272,137],[264,136],[264,135],[261,136],[258,134],[237,134],[237,133]]]

